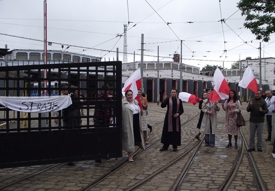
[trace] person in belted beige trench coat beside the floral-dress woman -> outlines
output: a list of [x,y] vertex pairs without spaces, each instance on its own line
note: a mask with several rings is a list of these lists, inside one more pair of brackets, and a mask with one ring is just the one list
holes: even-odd
[[219,103],[205,99],[202,104],[202,111],[204,115],[201,123],[201,133],[205,134],[205,146],[213,147],[218,121],[217,112],[220,111]]

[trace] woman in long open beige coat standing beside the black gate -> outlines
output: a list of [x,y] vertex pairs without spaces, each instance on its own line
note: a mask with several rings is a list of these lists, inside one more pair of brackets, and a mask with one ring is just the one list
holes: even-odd
[[133,99],[133,92],[127,90],[122,101],[122,147],[128,153],[129,162],[133,162],[135,145],[145,150],[141,128],[141,109]]

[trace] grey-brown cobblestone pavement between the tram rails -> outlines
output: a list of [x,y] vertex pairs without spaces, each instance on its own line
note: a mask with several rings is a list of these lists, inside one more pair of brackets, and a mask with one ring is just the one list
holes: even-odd
[[[184,115],[181,116],[182,123],[189,116],[199,114],[198,104],[193,106],[190,103],[183,103]],[[249,113],[246,112],[247,103],[242,104],[242,114],[246,120]],[[161,108],[157,103],[148,105],[148,123],[153,126],[152,133],[149,134],[149,143],[158,141],[161,137],[163,120],[166,108]],[[191,119],[182,127],[182,145],[178,147],[178,152],[172,152],[171,148],[165,152],[159,152],[162,147],[160,141],[148,148],[144,153],[134,158],[134,163],[127,163],[119,171],[108,176],[103,182],[94,185],[90,191],[125,191],[135,183],[144,180],[149,175],[157,172],[160,168],[167,165],[172,159],[180,156],[187,151],[194,143],[198,132],[196,125],[199,116]],[[85,120],[85,119],[84,119]],[[83,121],[85,123],[85,121]],[[204,144],[200,148],[190,171],[186,174],[181,191],[217,191],[220,185],[228,176],[240,149],[225,148],[228,143],[228,135],[224,128],[225,112],[218,112],[218,127],[216,133],[215,147],[206,147]],[[242,127],[246,141],[249,141],[249,122]],[[202,137],[202,135],[201,135]],[[267,137],[267,128],[264,125],[263,139]],[[234,144],[234,139],[233,139]],[[240,136],[238,147],[241,146]],[[272,157],[272,144],[270,141],[263,142],[263,152],[254,151],[251,154],[260,171],[266,187],[269,191],[275,190],[275,159]],[[104,175],[111,167],[127,158],[126,153],[118,159],[102,160],[102,163],[95,161],[79,161],[79,165],[61,165],[56,169],[43,172],[16,185],[4,189],[5,191],[79,191],[90,182]],[[137,191],[168,191],[177,176],[181,173],[189,160],[189,155],[181,160],[177,165],[172,166],[165,172],[150,179]],[[35,169],[44,166],[32,166],[21,168],[0,169],[0,186],[13,181],[13,175],[24,176]],[[10,177],[10,178],[9,178]],[[252,167],[249,164],[247,153],[241,161],[239,170],[228,191],[257,191],[257,181],[254,177]]]

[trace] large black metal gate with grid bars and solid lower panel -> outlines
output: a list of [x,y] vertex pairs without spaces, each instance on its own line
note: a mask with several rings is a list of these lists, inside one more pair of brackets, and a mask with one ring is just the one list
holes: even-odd
[[[80,121],[73,127],[62,123],[63,111],[24,113],[0,106],[0,168],[121,157],[121,65],[117,61],[1,67],[0,96],[61,95],[67,85],[85,98],[73,99],[84,111],[71,116]],[[97,97],[103,84],[110,86],[112,99]],[[112,108],[114,122],[94,125],[96,107]]]

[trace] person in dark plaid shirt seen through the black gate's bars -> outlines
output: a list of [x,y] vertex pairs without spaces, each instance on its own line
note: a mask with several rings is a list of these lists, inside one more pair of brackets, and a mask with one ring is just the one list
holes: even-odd
[[[98,101],[106,101],[112,99],[113,96],[109,95],[110,86],[108,84],[103,84],[102,88],[104,90],[100,91],[97,94],[97,97],[99,98]],[[95,107],[94,115],[97,115],[93,118],[95,127],[109,127],[109,124],[113,122],[113,117],[111,116],[113,115],[113,108],[111,106],[106,106],[104,107],[104,105],[97,105]]]

